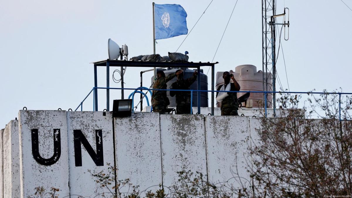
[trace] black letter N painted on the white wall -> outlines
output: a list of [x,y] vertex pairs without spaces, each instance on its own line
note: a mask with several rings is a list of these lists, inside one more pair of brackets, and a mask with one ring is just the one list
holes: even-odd
[[90,146],[87,138],[84,137],[81,130],[73,130],[74,137],[74,147],[75,147],[75,163],[76,166],[82,166],[82,150],[81,143],[84,148],[86,148],[90,157],[92,157],[96,166],[104,166],[103,159],[103,139],[102,131],[95,130],[95,140],[96,140],[96,153],[94,152],[92,146]]

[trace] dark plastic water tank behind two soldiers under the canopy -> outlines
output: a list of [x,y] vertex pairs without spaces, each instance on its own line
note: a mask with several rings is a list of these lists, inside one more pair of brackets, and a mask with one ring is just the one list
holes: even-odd
[[[162,70],[165,73],[165,76],[175,73],[176,70],[181,69],[181,68],[167,68],[167,69],[157,69],[157,71]],[[195,70],[193,69],[188,69],[184,68],[183,72],[183,78],[187,79],[190,78]],[[167,88],[169,89],[171,84],[176,82],[177,77],[171,79],[168,83],[166,83]],[[154,82],[154,76],[152,76],[151,82]],[[197,90],[197,80],[190,86],[190,89]],[[208,76],[203,74],[203,69],[200,69],[200,89],[201,90],[208,90]],[[175,107],[176,106],[176,97],[170,97],[170,92],[167,92],[167,96],[170,100],[170,107]],[[193,105],[192,106],[198,106],[198,101],[197,101],[197,92],[193,92]],[[207,92],[200,92],[200,106],[201,107],[208,107],[208,93]]]

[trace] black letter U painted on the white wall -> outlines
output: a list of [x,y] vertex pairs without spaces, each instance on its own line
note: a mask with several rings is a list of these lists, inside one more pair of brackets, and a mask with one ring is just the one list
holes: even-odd
[[32,154],[34,159],[44,166],[50,166],[56,163],[61,155],[61,140],[60,140],[60,129],[54,129],[54,155],[49,159],[44,159],[39,154],[38,144],[38,129],[32,129]]

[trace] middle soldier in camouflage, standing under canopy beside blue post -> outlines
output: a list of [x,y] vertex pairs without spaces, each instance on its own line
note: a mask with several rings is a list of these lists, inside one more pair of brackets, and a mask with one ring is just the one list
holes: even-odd
[[[182,70],[177,70],[182,71]],[[170,89],[184,89],[188,90],[192,83],[197,79],[197,71],[188,79],[183,79],[183,73],[177,75],[177,81],[172,83]],[[190,114],[191,113],[191,93],[181,91],[170,91],[170,96],[176,95],[176,114]]]

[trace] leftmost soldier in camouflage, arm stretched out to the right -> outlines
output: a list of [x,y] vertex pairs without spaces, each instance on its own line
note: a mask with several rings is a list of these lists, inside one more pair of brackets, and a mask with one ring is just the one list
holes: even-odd
[[[157,79],[154,82],[153,89],[166,89],[166,82],[175,77],[175,75],[181,74],[182,71],[176,72],[175,74],[169,74],[165,76],[163,71],[158,71],[156,73]],[[166,91],[153,90],[152,94],[152,106],[154,112],[165,113],[166,106],[169,99],[166,97]]]

